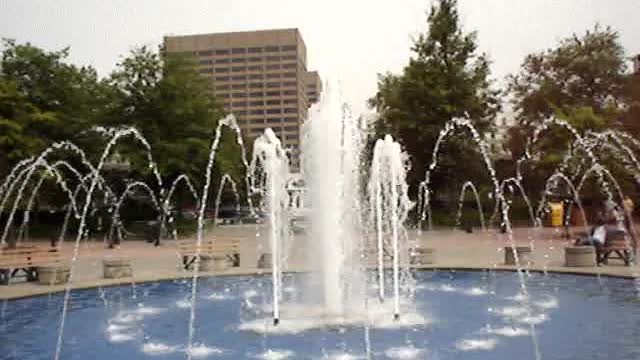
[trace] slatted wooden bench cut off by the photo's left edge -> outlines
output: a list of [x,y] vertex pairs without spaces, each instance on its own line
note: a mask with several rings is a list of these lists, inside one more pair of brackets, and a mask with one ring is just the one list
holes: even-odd
[[0,249],[0,284],[23,272],[27,281],[38,280],[38,267],[62,265],[58,249],[44,246],[18,246]]

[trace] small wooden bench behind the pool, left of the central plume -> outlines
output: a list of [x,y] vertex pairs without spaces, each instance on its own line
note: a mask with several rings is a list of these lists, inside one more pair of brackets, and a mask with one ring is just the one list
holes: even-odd
[[178,252],[185,270],[190,270],[197,256],[224,256],[233,266],[240,266],[240,239],[220,238],[202,240],[200,248],[194,240],[178,240]]

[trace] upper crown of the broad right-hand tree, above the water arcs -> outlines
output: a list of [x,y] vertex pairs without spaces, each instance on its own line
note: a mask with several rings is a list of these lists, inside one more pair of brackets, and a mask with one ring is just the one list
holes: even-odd
[[528,55],[520,72],[508,79],[518,114],[519,131],[514,134],[528,136],[546,117],[580,108],[591,108],[606,123],[615,125],[625,103],[625,72],[618,33],[599,25],[581,37],[574,34],[560,41],[556,48]]

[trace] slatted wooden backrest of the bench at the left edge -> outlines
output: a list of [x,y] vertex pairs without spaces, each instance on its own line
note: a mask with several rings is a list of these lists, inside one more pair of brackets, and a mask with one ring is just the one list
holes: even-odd
[[0,269],[56,265],[62,262],[62,254],[52,247],[19,246],[0,249]]

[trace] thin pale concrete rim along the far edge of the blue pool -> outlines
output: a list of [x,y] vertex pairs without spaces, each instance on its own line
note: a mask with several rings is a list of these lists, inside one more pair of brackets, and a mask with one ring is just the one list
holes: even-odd
[[[442,270],[442,271],[498,271],[498,272],[517,272],[515,266],[509,265],[497,265],[497,266],[473,266],[462,264],[428,264],[428,265],[412,265],[411,269],[415,270]],[[570,268],[570,267],[540,267],[530,266],[522,268],[524,272],[543,273],[543,274],[556,274],[556,275],[574,275],[574,276],[589,276],[589,277],[609,277],[633,280],[636,278],[633,274],[629,273],[631,268],[627,267],[627,273],[622,273],[618,267],[588,267],[588,268]],[[310,269],[289,269],[286,273],[303,273],[312,271]],[[207,271],[199,273],[199,279],[206,279],[211,277],[227,277],[227,276],[261,276],[270,275],[270,269],[258,269],[258,268],[230,268],[224,271]],[[193,275],[188,272],[176,272],[158,274],[155,276],[140,276],[133,278],[119,278],[119,279],[95,279],[90,281],[79,281],[70,284],[61,285],[40,285],[38,283],[16,283],[10,285],[2,285],[0,289],[0,300],[17,300],[29,297],[44,296],[58,294],[67,291],[75,290],[90,290],[101,287],[114,287],[114,286],[126,286],[132,284],[142,284],[150,282],[161,281],[175,281],[175,280],[191,280]]]

